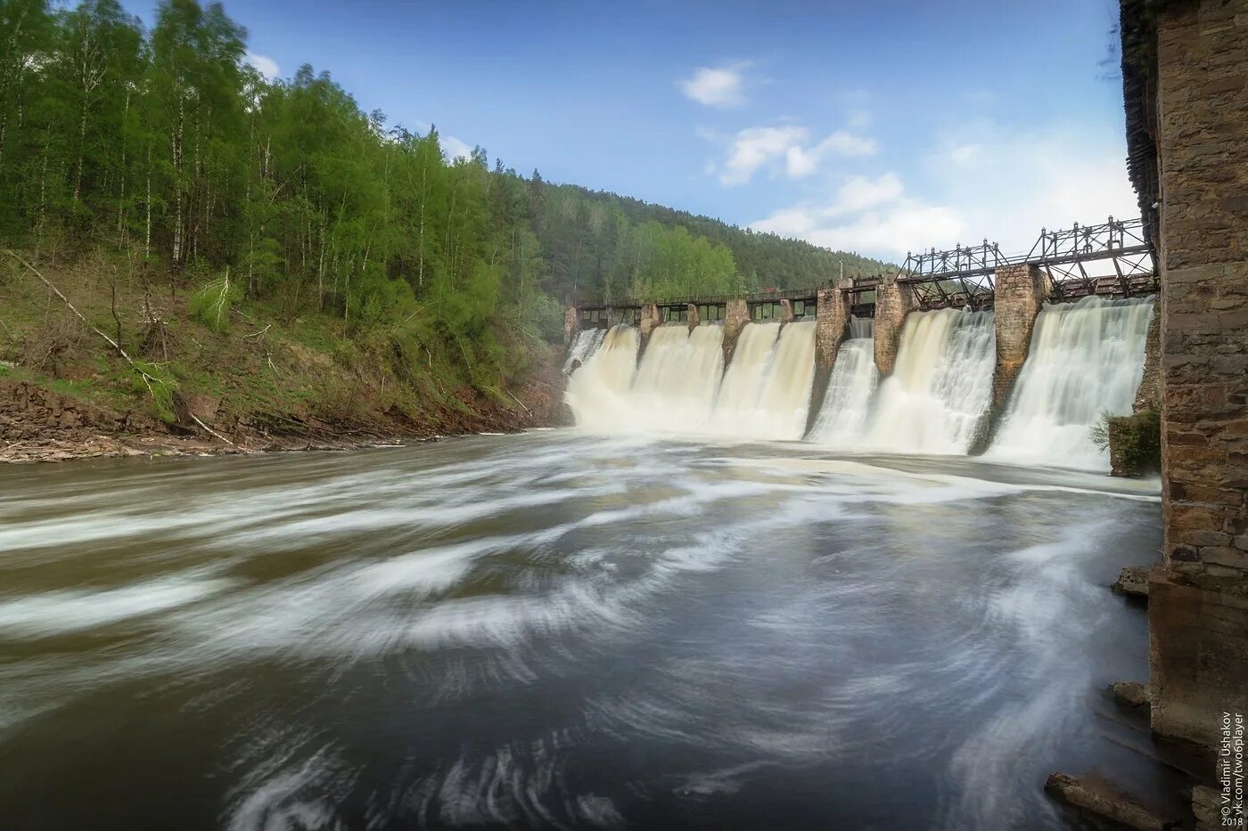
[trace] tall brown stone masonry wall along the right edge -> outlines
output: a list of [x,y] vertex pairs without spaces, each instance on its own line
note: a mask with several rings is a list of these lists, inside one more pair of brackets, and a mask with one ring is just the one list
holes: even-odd
[[[1157,17],[1163,564],[1152,724],[1248,711],[1248,0]],[[1137,187],[1141,182],[1136,182]]]

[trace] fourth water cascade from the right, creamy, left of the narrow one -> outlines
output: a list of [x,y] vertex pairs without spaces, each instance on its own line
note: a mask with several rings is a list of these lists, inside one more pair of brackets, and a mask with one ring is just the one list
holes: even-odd
[[725,435],[800,439],[815,379],[815,323],[748,323],[711,418]]

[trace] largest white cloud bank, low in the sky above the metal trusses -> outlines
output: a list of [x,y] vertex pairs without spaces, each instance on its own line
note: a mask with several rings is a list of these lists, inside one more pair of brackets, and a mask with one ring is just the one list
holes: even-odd
[[1020,138],[978,125],[932,142],[914,176],[921,195],[894,172],[842,177],[825,197],[781,207],[750,227],[896,262],[910,251],[985,237],[1006,253],[1026,252],[1042,227],[1137,215],[1123,150],[1090,146],[1088,135],[1070,126]]

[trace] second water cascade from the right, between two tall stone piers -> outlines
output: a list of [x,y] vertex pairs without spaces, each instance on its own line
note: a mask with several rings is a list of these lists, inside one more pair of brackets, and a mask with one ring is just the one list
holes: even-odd
[[890,453],[966,453],[992,398],[992,312],[911,312],[897,362],[880,384],[859,447]]

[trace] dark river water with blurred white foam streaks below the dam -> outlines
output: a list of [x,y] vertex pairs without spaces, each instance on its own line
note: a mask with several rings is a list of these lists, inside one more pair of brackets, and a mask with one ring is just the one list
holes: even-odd
[[1066,827],[1156,483],[578,430],[0,473],[11,829]]

